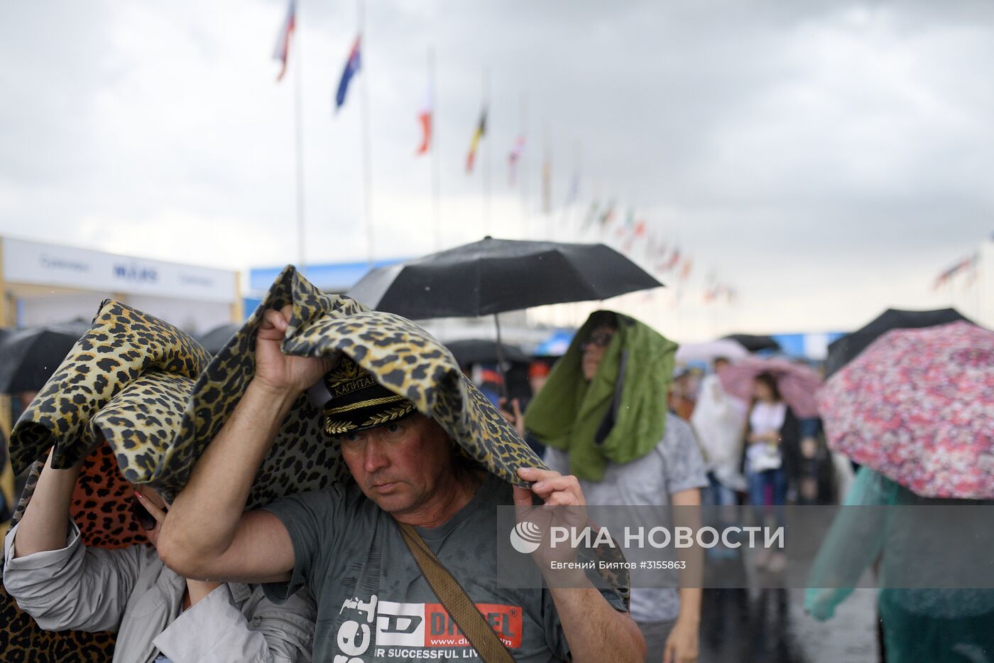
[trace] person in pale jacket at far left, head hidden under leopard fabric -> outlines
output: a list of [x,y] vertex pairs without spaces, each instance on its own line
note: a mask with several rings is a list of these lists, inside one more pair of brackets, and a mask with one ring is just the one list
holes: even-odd
[[136,487],[132,505],[151,548],[83,546],[70,517],[82,466],[54,469],[50,455],[4,541],[4,586],[39,626],[116,631],[115,663],[311,660],[316,608],[306,595],[275,605],[258,585],[184,578],[162,563],[154,547],[169,505],[153,489]]

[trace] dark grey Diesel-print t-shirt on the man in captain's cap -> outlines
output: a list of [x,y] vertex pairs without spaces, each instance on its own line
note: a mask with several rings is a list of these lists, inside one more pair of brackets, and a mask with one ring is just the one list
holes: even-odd
[[[497,577],[496,507],[513,503],[511,486],[487,475],[447,523],[417,533],[515,660],[565,660],[569,646],[548,590],[502,588],[507,583]],[[354,484],[283,498],[265,510],[286,527],[294,555],[289,583],[266,585],[266,595],[278,601],[303,585],[317,599],[315,663],[477,658],[422,576],[394,519]],[[619,598],[604,596],[623,609]]]

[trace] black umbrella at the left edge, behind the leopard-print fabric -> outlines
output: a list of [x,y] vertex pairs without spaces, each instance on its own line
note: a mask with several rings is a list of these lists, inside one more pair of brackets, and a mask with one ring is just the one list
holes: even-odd
[[10,331],[0,341],[0,393],[40,391],[88,329],[79,320]]

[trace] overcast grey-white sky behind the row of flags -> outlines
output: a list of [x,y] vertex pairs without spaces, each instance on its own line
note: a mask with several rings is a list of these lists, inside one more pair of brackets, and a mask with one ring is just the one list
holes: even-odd
[[[277,84],[284,13],[3,3],[0,234],[239,270],[297,262],[299,60],[307,260],[367,257],[362,85],[375,257],[430,252],[430,159],[414,149],[431,47],[445,247],[485,233],[617,243],[580,230],[591,201],[614,197],[694,272],[612,304],[681,339],[847,330],[888,306],[979,313],[978,287],[930,284],[994,231],[990,3],[370,2],[364,69],[337,114],[356,4],[300,0]],[[467,175],[484,72],[488,134]],[[735,305],[703,305],[709,273]]]

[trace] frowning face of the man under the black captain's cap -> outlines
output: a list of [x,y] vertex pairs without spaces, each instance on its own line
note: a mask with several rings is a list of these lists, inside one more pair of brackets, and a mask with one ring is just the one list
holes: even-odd
[[420,413],[339,439],[342,459],[359,488],[389,514],[410,513],[438,500],[440,489],[454,477],[448,435]]

